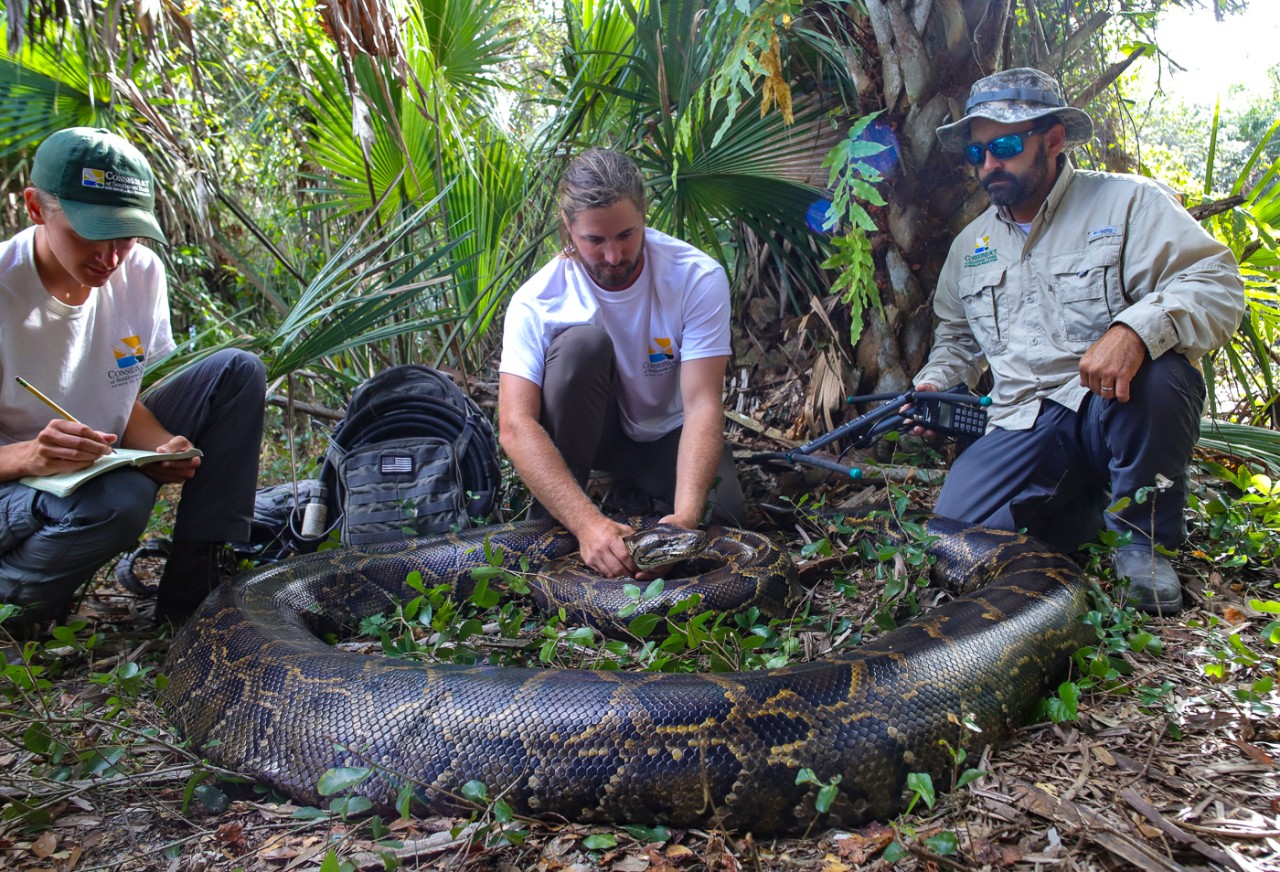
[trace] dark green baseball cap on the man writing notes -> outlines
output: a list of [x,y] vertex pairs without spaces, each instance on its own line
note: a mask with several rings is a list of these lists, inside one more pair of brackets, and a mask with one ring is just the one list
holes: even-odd
[[58,131],[36,149],[31,183],[58,197],[72,229],[86,239],[146,237],[169,245],[156,222],[147,159],[110,131]]

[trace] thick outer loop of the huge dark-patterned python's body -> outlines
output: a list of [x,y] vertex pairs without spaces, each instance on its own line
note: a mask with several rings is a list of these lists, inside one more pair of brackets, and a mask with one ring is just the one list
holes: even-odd
[[[856,826],[893,814],[911,772],[945,784],[943,740],[973,752],[1009,739],[1088,638],[1085,590],[1065,557],[943,519],[927,529],[938,566],[979,589],[822,662],[719,675],[425,666],[315,635],[411,597],[413,570],[465,586],[486,561],[485,538],[511,567],[573,548],[547,525],[310,554],[205,601],[170,649],[165,702],[211,761],[310,804],[323,802],[321,773],[351,766],[375,770],[355,793],[388,813],[406,785],[419,812],[465,813],[462,785],[477,780],[540,818],[758,834]],[[756,576],[749,586],[790,565],[762,542],[717,540]],[[692,584],[726,607],[718,583]],[[828,813],[814,812],[818,785],[796,785],[801,768],[838,776]]]

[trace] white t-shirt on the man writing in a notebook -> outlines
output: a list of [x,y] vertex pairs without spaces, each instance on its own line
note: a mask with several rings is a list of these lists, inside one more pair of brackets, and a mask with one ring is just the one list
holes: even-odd
[[146,361],[174,348],[164,264],[133,246],[82,306],[51,297],[36,271],[36,228],[0,243],[0,444],[33,439],[56,412],[22,376],[96,430],[124,434]]

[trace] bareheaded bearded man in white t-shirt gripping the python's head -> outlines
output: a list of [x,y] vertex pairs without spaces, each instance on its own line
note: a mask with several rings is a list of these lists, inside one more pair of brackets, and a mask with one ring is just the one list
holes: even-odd
[[591,149],[558,190],[564,251],[511,300],[498,382],[499,439],[538,503],[608,576],[634,574],[626,539],[584,487],[593,469],[652,497],[664,522],[739,524],[724,444],[730,356],[724,269],[645,227],[628,157]]

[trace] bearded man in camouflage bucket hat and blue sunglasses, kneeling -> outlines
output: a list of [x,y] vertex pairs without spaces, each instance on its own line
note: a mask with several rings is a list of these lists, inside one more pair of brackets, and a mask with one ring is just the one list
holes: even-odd
[[947,255],[916,388],[973,387],[988,367],[993,387],[987,433],[936,508],[1064,551],[1103,526],[1124,534],[1116,577],[1137,608],[1169,615],[1183,594],[1162,551],[1185,538],[1198,364],[1235,330],[1244,288],[1231,252],[1170,191],[1076,170],[1066,151],[1092,136],[1059,83],[1025,68],[980,79],[964,118],[938,128],[992,207]]

